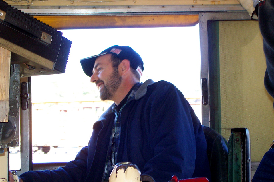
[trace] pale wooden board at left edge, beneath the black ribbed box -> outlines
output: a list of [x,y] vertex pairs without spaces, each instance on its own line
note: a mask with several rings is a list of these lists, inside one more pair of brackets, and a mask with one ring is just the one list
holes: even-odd
[[11,52],[0,47],[0,122],[9,121]]

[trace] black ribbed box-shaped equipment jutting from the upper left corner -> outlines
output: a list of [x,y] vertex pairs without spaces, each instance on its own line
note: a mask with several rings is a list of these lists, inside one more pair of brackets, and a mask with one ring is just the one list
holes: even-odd
[[65,73],[72,42],[63,33],[0,0],[0,47],[21,76]]

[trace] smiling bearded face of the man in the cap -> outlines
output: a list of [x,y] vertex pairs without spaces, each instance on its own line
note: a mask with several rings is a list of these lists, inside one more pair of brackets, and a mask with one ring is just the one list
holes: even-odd
[[96,59],[90,81],[95,82],[101,100],[112,100],[121,80],[118,70],[112,67],[111,54],[105,54]]

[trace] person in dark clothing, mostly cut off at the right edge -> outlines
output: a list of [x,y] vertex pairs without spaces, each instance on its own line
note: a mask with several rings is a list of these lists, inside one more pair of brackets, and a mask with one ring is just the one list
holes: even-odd
[[[259,2],[258,10],[259,27],[263,36],[263,50],[266,58],[265,88],[274,98],[274,1],[264,0]],[[274,148],[265,153],[252,181],[274,181]]]

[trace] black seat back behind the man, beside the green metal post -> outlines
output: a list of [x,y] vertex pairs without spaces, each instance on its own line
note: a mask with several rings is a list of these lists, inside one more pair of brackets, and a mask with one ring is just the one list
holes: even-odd
[[228,182],[228,143],[212,128],[202,126],[207,142],[212,182]]

